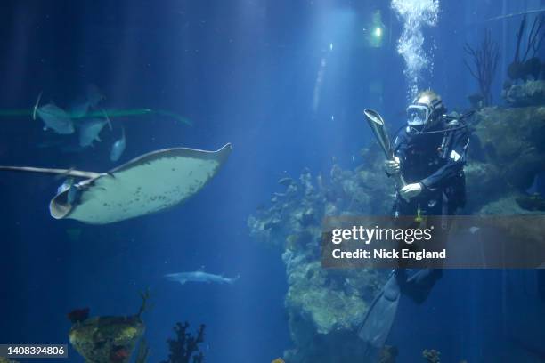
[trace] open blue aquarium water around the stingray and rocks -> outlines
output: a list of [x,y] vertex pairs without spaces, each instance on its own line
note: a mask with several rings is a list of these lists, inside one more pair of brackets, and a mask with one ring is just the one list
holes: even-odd
[[[484,27],[500,40],[504,34],[501,22],[484,23],[501,13],[496,2],[473,3],[443,1],[438,26],[426,31],[436,49],[425,83],[456,109],[468,108],[466,96],[475,88],[462,45],[476,43]],[[505,3],[508,12],[540,6]],[[28,0],[4,1],[2,8],[0,109],[29,109],[42,91],[45,101],[68,105],[94,84],[109,107],[167,109],[193,125],[168,117],[119,118],[113,121],[117,133],[105,136],[104,144],[69,154],[36,148],[44,136],[41,123],[3,118],[0,165],[108,170],[106,142],[115,140],[119,125],[127,138],[121,162],[175,146],[213,150],[231,142],[233,151],[216,178],[183,206],[102,227],[49,216],[47,204],[61,181],[2,174],[0,343],[67,343],[69,311],[88,306],[92,315],[130,314],[140,306],[138,293],[150,287],[153,306],[143,316],[150,361],[167,358],[166,339],[175,322],[185,320],[195,329],[207,325],[208,362],[281,357],[292,346],[281,251],[252,240],[247,218],[278,190],[282,176],[297,176],[304,167],[327,173],[333,157],[346,168],[362,163],[359,150],[371,140],[363,108],[379,109],[395,127],[403,124],[407,91],[395,52],[401,24],[388,4]],[[376,9],[387,34],[382,48],[371,49],[362,46],[361,29]],[[508,36],[517,24],[508,23]],[[511,54],[514,42],[506,39],[501,51]],[[321,99],[313,109],[324,59]],[[381,100],[370,93],[376,80]],[[499,101],[499,91],[493,96]],[[77,241],[67,234],[74,229],[81,230]],[[228,277],[240,274],[240,280],[179,286],[162,278],[203,266]],[[542,354],[542,332],[525,331],[517,339],[509,334],[513,316],[530,314],[523,307],[538,297],[509,297],[506,280],[518,286],[533,273],[445,272],[425,305],[402,304],[404,318],[391,335],[403,351],[399,360],[415,361],[433,346],[449,357],[445,361],[515,361],[500,360],[498,347],[517,339]],[[83,359],[70,349],[69,361]]]

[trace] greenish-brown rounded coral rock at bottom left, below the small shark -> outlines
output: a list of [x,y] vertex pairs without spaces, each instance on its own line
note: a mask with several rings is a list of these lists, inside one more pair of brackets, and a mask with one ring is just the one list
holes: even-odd
[[[88,363],[127,363],[142,337],[145,326],[141,319],[149,293],[142,293],[137,314],[126,317],[94,317],[76,319],[69,331],[69,341]],[[88,315],[88,309],[79,310]],[[81,316],[78,313],[77,316]],[[85,314],[84,314],[85,315]]]

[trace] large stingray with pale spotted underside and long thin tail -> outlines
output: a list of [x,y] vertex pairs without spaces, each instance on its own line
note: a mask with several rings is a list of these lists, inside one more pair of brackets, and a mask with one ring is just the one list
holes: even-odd
[[154,214],[183,203],[216,175],[231,150],[229,143],[216,151],[161,149],[136,157],[107,173],[28,166],[0,166],[0,171],[83,178],[58,190],[49,204],[51,216],[107,224]]

